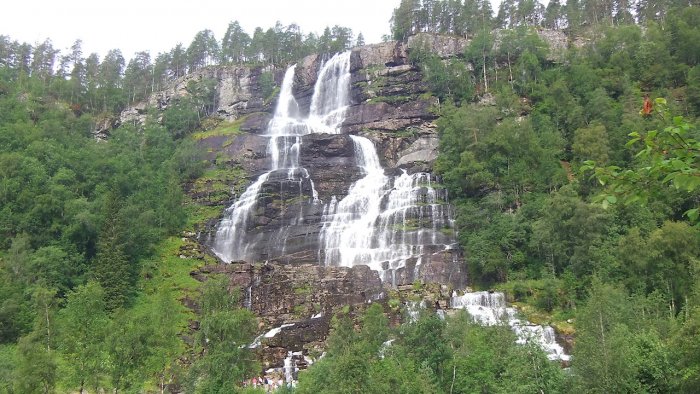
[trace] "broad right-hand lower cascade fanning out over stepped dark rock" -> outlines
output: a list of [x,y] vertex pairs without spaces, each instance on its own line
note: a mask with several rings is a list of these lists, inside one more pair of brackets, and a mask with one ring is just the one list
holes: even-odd
[[396,270],[410,260],[417,271],[426,245],[448,243],[441,230],[451,227],[450,211],[429,174],[403,171],[396,178],[386,176],[374,144],[364,137],[351,138],[365,176],[345,198],[329,204],[319,254],[327,266],[366,264],[393,283]]

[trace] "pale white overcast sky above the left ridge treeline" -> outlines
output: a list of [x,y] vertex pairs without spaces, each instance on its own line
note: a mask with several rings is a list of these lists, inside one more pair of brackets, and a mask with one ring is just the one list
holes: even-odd
[[121,49],[127,59],[147,50],[155,57],[177,43],[185,47],[198,31],[210,29],[218,40],[229,22],[238,20],[252,34],[255,27],[298,24],[320,34],[326,26],[349,27],[365,42],[389,34],[389,19],[400,0],[19,0],[0,13],[0,35],[30,44],[51,38],[67,53],[76,39],[83,56],[100,58]]

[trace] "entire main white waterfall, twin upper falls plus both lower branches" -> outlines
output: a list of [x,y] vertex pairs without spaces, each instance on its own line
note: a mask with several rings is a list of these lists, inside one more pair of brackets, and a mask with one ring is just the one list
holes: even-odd
[[[301,209],[297,217],[286,218],[274,236],[251,231],[259,224],[256,212],[263,209],[260,201],[270,194],[275,182],[287,188],[296,185],[297,200],[304,204],[321,204],[309,171],[300,166],[300,150],[305,135],[340,133],[350,102],[350,52],[322,65],[306,118],[300,116],[292,94],[294,74],[292,66],[285,74],[274,118],[265,134],[269,137],[270,169],[227,209],[218,228],[213,250],[224,261],[259,261],[284,255],[288,234],[304,221]],[[391,283],[396,283],[397,272],[405,268],[413,271],[404,272],[404,279],[413,281],[425,256],[454,243],[445,191],[435,187],[434,179],[426,173],[386,175],[372,141],[355,135],[350,138],[362,177],[344,198],[334,196],[318,205],[320,222],[315,236],[319,262],[348,267],[365,264]],[[302,183],[310,185],[311,198],[303,195]],[[267,245],[270,243],[275,245]]]

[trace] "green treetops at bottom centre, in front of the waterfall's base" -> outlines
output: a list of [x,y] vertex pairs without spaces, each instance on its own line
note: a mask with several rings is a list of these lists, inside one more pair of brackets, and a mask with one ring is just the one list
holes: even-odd
[[379,304],[359,332],[334,321],[326,355],[307,372],[300,393],[532,393],[564,389],[564,373],[535,345],[515,343],[507,326],[483,327],[466,312],[443,320],[423,311],[390,328]]

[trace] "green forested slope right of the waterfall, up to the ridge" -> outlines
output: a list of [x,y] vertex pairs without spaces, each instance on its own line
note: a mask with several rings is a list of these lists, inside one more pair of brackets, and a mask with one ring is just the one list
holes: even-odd
[[[393,20],[399,39],[473,38],[463,56],[412,60],[441,98],[435,168],[474,285],[574,319],[570,390],[696,392],[700,10],[639,2],[635,24],[629,3],[504,1],[470,21],[484,6],[403,1]],[[533,26],[588,43],[552,57]],[[473,78],[455,89],[460,63]]]

